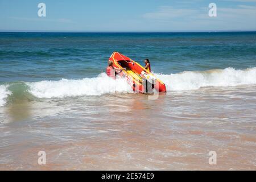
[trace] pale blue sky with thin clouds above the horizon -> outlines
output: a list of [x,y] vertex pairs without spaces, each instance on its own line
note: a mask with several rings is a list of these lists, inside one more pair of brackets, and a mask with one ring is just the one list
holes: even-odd
[[[38,4],[46,4],[46,17]],[[217,17],[209,17],[209,3]],[[0,0],[1,31],[256,30],[256,0]]]

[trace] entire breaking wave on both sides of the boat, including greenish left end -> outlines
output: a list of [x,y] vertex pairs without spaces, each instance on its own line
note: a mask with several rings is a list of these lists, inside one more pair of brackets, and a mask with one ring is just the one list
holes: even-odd
[[[185,71],[170,75],[155,74],[166,84],[167,91],[196,90],[207,86],[238,86],[256,84],[256,67],[248,69],[213,69],[209,71]],[[105,73],[94,78],[80,80],[61,79],[38,82],[10,82],[0,85],[0,106],[15,99],[64,98],[100,96],[102,94],[133,93],[123,78],[113,80]]]

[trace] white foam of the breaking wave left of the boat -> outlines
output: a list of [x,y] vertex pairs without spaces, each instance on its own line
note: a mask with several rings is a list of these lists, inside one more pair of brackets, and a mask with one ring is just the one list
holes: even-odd
[[113,80],[105,73],[98,77],[81,80],[61,79],[59,81],[27,82],[29,92],[38,98],[63,98],[75,96],[99,96],[105,93],[132,92],[126,80]]

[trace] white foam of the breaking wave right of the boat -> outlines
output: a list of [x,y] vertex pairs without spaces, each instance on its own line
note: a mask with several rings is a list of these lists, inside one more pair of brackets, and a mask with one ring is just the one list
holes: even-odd
[[167,90],[195,90],[206,86],[238,86],[256,84],[256,67],[248,69],[214,69],[186,71],[171,75],[155,74],[166,84]]

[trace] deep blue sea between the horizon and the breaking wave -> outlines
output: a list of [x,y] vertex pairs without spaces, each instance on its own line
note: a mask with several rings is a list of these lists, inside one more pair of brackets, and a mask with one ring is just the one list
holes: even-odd
[[96,77],[118,51],[155,73],[256,66],[256,32],[0,32],[0,82]]

